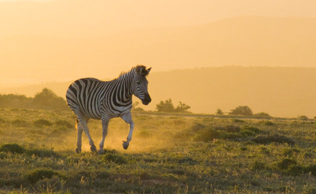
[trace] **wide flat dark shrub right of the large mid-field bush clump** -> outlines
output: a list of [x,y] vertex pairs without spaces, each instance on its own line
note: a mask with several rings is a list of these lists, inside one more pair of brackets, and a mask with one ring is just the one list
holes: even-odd
[[269,135],[257,135],[256,137],[253,138],[253,141],[256,143],[261,143],[261,144],[277,142],[277,143],[288,143],[292,145],[295,143],[295,141],[291,137],[279,135],[277,133],[269,134]]

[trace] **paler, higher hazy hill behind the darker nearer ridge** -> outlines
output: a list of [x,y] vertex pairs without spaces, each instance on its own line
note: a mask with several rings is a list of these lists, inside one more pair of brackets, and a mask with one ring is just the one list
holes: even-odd
[[[177,28],[100,36],[0,36],[0,83],[114,77],[131,65],[316,67],[316,19],[245,16]],[[66,32],[65,32],[66,33]]]

